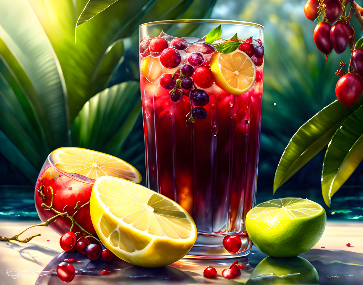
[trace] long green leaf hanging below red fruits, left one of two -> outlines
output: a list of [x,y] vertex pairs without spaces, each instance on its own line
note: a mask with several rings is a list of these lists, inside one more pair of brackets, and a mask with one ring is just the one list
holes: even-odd
[[329,143],[340,124],[361,104],[362,98],[350,107],[344,107],[335,100],[298,129],[280,158],[275,173],[274,193]]

